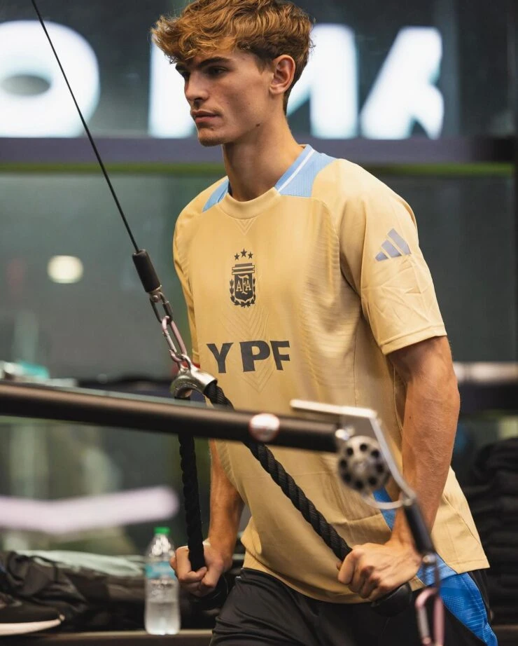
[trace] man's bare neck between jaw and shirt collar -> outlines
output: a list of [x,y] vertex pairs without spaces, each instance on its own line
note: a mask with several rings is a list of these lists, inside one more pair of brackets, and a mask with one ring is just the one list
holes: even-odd
[[295,142],[288,123],[265,125],[246,141],[223,145],[223,160],[232,197],[239,202],[258,198],[281,179],[295,162],[302,146]]

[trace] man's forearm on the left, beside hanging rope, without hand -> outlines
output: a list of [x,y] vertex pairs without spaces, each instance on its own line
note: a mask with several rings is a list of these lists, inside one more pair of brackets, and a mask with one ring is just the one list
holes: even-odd
[[218,451],[211,441],[211,520],[209,542],[225,558],[228,567],[237,539],[237,530],[243,511],[243,501],[235,486],[226,476]]

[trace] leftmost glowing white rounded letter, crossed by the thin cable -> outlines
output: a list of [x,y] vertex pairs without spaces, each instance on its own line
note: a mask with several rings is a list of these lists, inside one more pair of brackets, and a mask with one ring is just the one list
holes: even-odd
[[[46,24],[86,121],[99,102],[97,57],[83,36],[69,27]],[[30,46],[27,45],[30,43]],[[38,95],[2,88],[13,76],[38,76],[49,84]],[[0,24],[0,137],[76,137],[83,126],[52,50],[36,20]]]

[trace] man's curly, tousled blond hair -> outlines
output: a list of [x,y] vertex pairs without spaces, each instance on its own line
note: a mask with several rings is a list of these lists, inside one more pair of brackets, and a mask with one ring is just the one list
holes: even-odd
[[260,64],[283,54],[295,61],[293,85],[307,65],[313,23],[307,13],[283,0],[195,0],[179,17],[161,16],[151,29],[153,41],[171,62],[188,62],[215,50],[239,49]]

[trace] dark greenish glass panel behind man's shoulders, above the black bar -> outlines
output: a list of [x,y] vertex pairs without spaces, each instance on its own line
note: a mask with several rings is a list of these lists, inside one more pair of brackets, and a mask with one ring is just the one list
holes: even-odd
[[[455,360],[516,360],[511,178],[380,178],[414,209]],[[216,179],[201,174],[113,179],[186,338],[172,233],[181,209]],[[102,179],[3,174],[0,193],[0,359],[40,364],[52,377],[167,378],[172,366],[167,346]],[[79,282],[50,279],[49,262],[55,256],[80,259]]]

